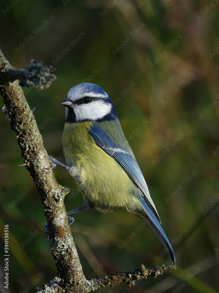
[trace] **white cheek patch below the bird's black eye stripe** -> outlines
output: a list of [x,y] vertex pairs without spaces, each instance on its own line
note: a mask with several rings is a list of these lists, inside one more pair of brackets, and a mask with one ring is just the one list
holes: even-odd
[[103,100],[74,106],[76,121],[98,120],[110,113],[112,105]]

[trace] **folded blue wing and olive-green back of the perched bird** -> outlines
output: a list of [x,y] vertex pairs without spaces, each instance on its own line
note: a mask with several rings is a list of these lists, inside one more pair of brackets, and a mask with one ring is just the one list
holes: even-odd
[[150,202],[154,213],[160,221],[160,217],[150,197],[145,179],[141,173],[137,161],[135,160],[134,154],[122,132],[118,120],[114,121],[114,126],[114,133],[112,133],[112,127],[110,127],[110,124],[108,124],[107,122],[95,122],[88,130],[88,133],[94,139],[96,144],[102,147],[102,149],[104,149],[107,154],[112,156],[126,171],[131,180],[138,186],[144,199],[147,198],[147,200]]

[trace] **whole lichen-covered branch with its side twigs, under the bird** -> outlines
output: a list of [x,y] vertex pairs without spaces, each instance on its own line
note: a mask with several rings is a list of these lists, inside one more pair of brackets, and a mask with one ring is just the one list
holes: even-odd
[[[52,255],[60,280],[51,281],[38,292],[90,292],[98,287],[112,286],[119,283],[134,285],[135,280],[148,276],[161,275],[164,271],[174,268],[156,267],[147,270],[143,265],[132,272],[118,272],[115,276],[103,279],[86,280],[79,261],[78,253],[68,225],[64,206],[64,197],[69,189],[63,188],[55,180],[47,152],[44,148],[36,120],[27,104],[20,85],[36,86],[39,89],[48,87],[55,79],[54,69],[42,63],[31,63],[27,70],[14,69],[0,50],[0,93],[4,99],[4,113],[11,120],[11,129],[16,133],[18,146],[23,158],[23,166],[29,171],[44,206],[44,214],[48,223],[46,232],[50,241]],[[20,85],[19,81],[20,79]]]

